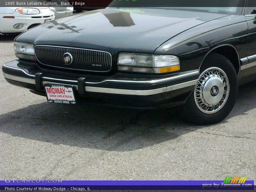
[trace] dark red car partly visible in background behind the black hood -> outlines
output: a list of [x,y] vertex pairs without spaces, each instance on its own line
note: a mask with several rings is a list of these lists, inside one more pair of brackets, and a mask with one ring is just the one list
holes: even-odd
[[104,9],[111,2],[112,0],[69,0],[70,5],[72,5],[77,12],[83,10]]

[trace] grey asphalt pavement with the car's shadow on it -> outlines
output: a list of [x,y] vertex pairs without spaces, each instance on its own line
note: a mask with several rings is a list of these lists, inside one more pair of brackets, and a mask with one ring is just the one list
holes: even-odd
[[[0,35],[0,66],[15,59]],[[61,105],[8,84],[0,69],[0,180],[256,180],[256,82],[220,124],[180,120],[179,107]]]

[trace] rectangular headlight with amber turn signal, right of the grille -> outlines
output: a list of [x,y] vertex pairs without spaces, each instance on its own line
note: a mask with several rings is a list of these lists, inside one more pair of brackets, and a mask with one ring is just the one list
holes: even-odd
[[173,55],[120,53],[118,70],[141,73],[169,73],[180,70],[180,60]]

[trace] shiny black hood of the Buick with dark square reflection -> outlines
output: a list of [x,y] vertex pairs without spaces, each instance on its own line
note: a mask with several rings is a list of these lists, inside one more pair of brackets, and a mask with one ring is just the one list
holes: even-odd
[[24,33],[34,44],[153,53],[189,28],[227,15],[165,9],[102,9],[54,20]]

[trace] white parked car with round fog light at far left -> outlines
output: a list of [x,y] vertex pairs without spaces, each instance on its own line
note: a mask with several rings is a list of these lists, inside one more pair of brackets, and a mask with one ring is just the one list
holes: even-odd
[[21,33],[54,19],[48,7],[0,7],[0,33]]

